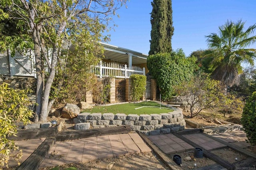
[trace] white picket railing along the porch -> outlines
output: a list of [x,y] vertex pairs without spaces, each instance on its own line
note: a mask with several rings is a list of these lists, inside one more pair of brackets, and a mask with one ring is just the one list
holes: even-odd
[[132,66],[129,68],[126,64],[102,63],[102,61],[100,61],[98,66],[92,67],[92,72],[100,78],[104,76],[129,78],[132,74],[145,75],[145,68],[140,68],[139,66]]

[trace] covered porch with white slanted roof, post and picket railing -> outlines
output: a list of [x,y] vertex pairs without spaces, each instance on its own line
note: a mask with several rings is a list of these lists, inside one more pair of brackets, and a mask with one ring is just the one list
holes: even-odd
[[104,57],[95,66],[93,72],[99,76],[114,76],[129,78],[132,74],[146,75],[148,55],[122,47],[101,43],[104,47]]

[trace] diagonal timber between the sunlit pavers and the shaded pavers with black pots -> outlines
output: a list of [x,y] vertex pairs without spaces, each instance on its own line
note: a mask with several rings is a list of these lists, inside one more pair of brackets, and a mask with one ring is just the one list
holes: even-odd
[[153,149],[153,151],[160,157],[162,161],[172,170],[182,170],[169,156],[160,150],[148,137],[140,132],[137,132],[140,137]]

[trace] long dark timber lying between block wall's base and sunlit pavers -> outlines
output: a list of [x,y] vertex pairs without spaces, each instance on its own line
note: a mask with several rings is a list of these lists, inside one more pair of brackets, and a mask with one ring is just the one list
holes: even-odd
[[114,135],[120,133],[129,133],[131,131],[130,125],[118,127],[104,127],[99,129],[88,129],[80,131],[66,131],[60,132],[56,135],[56,141],[66,141],[80,138],[96,137],[103,135]]

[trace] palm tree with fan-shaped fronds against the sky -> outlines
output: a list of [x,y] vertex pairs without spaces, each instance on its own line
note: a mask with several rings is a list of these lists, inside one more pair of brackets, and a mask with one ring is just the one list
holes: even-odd
[[237,23],[227,21],[219,27],[219,34],[206,36],[209,49],[205,57],[211,59],[209,66],[214,70],[212,78],[227,86],[239,84],[241,64],[253,66],[256,59],[256,49],[246,49],[256,42],[256,36],[252,35],[256,24],[244,31],[244,23],[241,20]]

